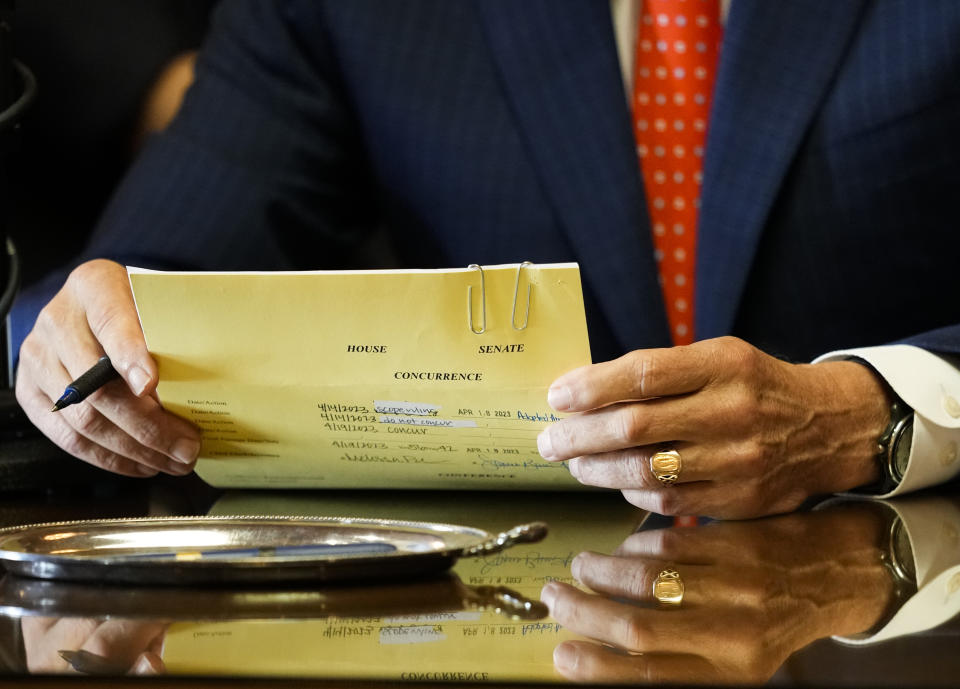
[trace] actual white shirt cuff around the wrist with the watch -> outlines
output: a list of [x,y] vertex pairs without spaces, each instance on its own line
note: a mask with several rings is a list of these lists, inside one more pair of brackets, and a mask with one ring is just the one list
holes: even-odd
[[814,363],[858,357],[914,410],[910,461],[900,485],[883,497],[948,481],[960,473],[960,363],[912,345],[844,349]]

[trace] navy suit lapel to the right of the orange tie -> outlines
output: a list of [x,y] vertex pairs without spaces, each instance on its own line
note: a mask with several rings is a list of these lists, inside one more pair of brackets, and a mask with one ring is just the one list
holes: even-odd
[[704,162],[696,335],[733,328],[761,230],[864,0],[734,0]]

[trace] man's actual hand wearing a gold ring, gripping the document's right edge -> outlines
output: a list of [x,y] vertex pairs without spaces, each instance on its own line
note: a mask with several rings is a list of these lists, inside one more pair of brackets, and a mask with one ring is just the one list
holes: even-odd
[[[661,514],[746,518],[877,478],[888,392],[849,361],[789,364],[723,337],[639,350],[558,378],[547,397],[577,412],[548,427],[540,454],[581,483],[617,488]],[[677,482],[651,472],[680,453]]]

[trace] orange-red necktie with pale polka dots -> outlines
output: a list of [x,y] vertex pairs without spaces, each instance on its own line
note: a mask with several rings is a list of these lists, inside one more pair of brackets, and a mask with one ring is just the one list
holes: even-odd
[[633,124],[674,344],[693,342],[694,265],[719,0],[643,0]]

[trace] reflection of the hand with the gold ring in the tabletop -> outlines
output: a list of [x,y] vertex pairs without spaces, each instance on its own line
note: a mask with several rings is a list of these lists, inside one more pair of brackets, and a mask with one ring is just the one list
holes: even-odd
[[[614,556],[581,553],[573,575],[597,593],[551,582],[541,597],[557,622],[604,645],[563,642],[556,668],[591,682],[766,681],[793,651],[862,632],[888,609],[885,519],[858,503],[640,532]],[[679,607],[653,600],[667,567],[683,579]]]

